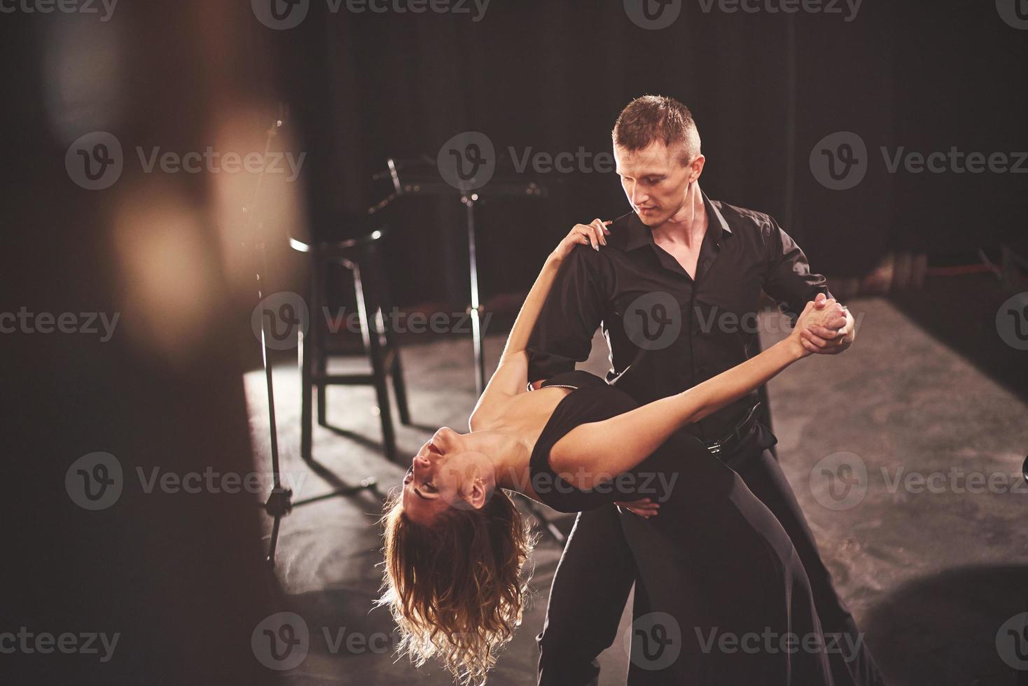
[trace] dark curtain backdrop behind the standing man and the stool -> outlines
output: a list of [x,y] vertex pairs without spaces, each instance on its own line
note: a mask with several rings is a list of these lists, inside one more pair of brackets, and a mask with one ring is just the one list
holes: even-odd
[[[991,2],[869,0],[848,23],[704,13],[686,2],[660,31],[628,21],[620,0],[497,0],[478,23],[331,14],[314,3],[300,27],[271,40],[309,151],[315,231],[381,197],[370,173],[388,156],[434,159],[465,130],[486,134],[498,153],[610,152],[621,108],[659,93],[693,111],[708,195],[778,219],[822,273],[860,276],[895,250],[929,252],[940,264],[977,261],[976,249],[991,254],[1023,233],[1025,176],[888,174],[879,151],[1028,149],[1028,36]],[[858,134],[871,157],[848,191],[822,187],[808,165],[817,141],[839,130]],[[526,288],[575,223],[628,209],[614,174],[537,177],[549,198],[481,208],[486,296]],[[463,305],[456,199],[408,197],[394,209],[397,299]],[[434,268],[419,268],[426,262]]]

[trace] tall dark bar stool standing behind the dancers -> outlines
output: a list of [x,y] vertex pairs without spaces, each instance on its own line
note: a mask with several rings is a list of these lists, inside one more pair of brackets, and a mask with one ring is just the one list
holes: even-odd
[[[299,345],[300,385],[300,455],[311,459],[311,391],[318,389],[318,423],[327,426],[325,419],[325,390],[331,385],[368,384],[375,387],[378,398],[379,418],[382,425],[382,449],[386,457],[396,460],[396,432],[393,429],[393,413],[390,407],[389,379],[393,378],[400,421],[410,424],[407,410],[407,391],[403,384],[403,368],[400,364],[400,348],[396,336],[387,326],[383,313],[392,311],[392,302],[386,273],[382,269],[379,247],[384,237],[384,227],[375,229],[361,238],[332,242],[303,242],[290,238],[293,250],[310,255],[310,288],[307,302],[310,309],[310,327]],[[361,322],[361,337],[364,351],[371,363],[370,374],[329,374],[328,359],[340,355],[332,350],[328,342],[328,317],[323,316],[323,307],[328,298],[328,266],[342,265],[354,276],[357,293],[357,311]]]

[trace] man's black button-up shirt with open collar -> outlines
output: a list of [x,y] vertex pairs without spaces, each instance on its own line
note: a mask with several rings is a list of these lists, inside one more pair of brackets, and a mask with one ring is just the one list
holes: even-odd
[[[707,230],[696,279],[653,240],[635,213],[610,227],[598,252],[576,245],[560,267],[528,343],[528,379],[575,369],[602,323],[611,384],[637,403],[680,393],[747,359],[763,290],[795,321],[829,295],[796,242],[765,214],[703,194]],[[743,397],[689,427],[712,441],[756,402]]]

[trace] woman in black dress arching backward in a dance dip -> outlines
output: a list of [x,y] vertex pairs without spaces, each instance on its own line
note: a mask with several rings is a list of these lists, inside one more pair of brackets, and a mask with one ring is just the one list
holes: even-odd
[[[651,568],[638,569],[636,595],[674,617],[683,645],[648,683],[830,685],[823,653],[719,651],[725,634],[736,642],[754,632],[820,637],[820,626],[806,574],[777,520],[735,472],[677,430],[809,354],[799,332],[838,329],[845,310],[831,300],[808,303],[787,339],[642,407],[581,371],[525,392],[525,347],[560,264],[578,244],[599,250],[607,233],[598,221],[579,224],[550,255],[472,413],[471,432],[439,429],[387,503],[380,603],[400,627],[401,651],[417,664],[439,658],[462,683],[484,682],[520,622],[522,568],[534,542],[506,491],[581,511],[649,495],[639,485],[656,481],[674,484],[672,497],[653,525],[631,525],[648,527],[631,539],[650,536],[648,544],[666,546],[668,557],[657,567],[650,556]],[[672,479],[642,478],[657,474]],[[667,593],[685,584],[703,593]]]

